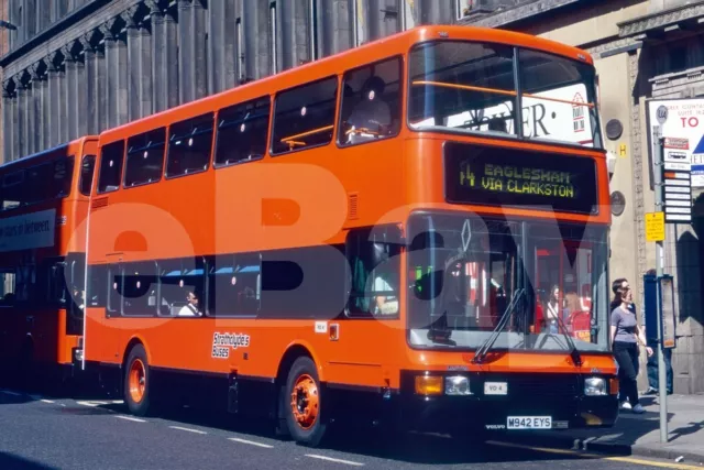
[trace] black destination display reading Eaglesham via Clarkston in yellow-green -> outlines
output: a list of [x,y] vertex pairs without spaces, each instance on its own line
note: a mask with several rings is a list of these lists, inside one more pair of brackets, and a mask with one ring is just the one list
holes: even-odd
[[448,142],[446,199],[596,214],[596,162],[584,156]]

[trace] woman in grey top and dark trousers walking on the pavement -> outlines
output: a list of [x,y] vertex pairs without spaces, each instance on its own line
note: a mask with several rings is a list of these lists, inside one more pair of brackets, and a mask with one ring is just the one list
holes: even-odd
[[[619,278],[612,285],[614,300],[612,302],[610,338],[614,346],[614,357],[618,362],[620,381],[620,396],[624,397],[622,407],[634,413],[644,413],[638,401],[638,342],[642,343],[652,356],[652,349],[647,346],[645,335],[638,328],[636,314],[628,307],[632,302],[632,291],[628,281]],[[628,400],[628,401],[626,401]]]

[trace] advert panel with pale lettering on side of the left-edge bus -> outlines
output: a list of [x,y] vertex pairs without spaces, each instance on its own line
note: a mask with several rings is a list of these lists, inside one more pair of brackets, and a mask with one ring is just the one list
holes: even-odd
[[0,252],[54,245],[56,209],[0,219]]

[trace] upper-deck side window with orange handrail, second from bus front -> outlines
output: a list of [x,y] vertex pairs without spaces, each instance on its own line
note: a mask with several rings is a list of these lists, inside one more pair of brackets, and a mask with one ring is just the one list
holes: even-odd
[[334,129],[338,78],[293,88],[276,97],[272,154],[327,145]]

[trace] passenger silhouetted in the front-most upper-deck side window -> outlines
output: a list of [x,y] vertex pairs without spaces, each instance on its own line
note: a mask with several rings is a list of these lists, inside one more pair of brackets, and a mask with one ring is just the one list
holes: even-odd
[[348,143],[361,143],[388,132],[392,112],[382,98],[386,84],[377,76],[370,77],[362,87],[362,100],[354,107],[348,123]]

